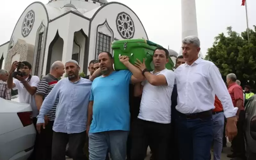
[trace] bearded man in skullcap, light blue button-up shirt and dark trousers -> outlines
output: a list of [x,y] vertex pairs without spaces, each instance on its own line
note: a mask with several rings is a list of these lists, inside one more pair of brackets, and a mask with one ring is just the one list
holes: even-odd
[[45,128],[46,115],[59,98],[52,130],[52,160],[65,160],[66,146],[73,160],[85,160],[83,153],[87,110],[92,82],[79,76],[80,67],[75,60],[65,64],[67,78],[61,79],[44,99],[37,116],[37,130]]

